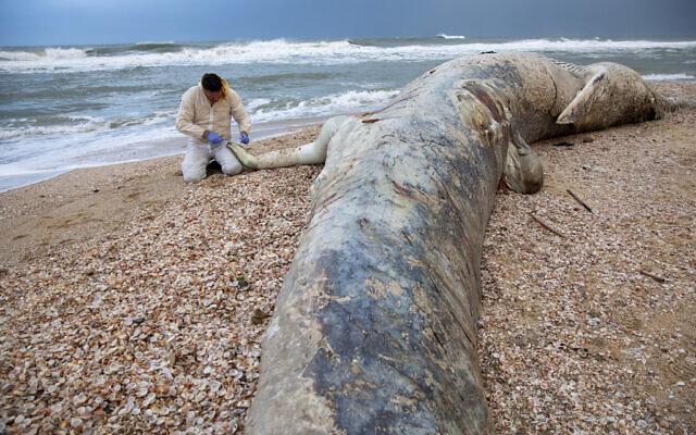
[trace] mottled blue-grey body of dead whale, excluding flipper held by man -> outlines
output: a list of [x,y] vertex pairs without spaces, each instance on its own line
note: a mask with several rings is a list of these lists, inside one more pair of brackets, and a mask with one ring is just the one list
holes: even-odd
[[536,191],[526,142],[654,119],[664,104],[620,65],[497,53],[442,64],[383,110],[341,120],[246,432],[489,433],[475,322],[500,177]]

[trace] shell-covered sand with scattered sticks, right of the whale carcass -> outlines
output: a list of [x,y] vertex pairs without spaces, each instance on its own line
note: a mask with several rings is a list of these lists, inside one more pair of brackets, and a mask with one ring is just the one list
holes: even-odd
[[[696,85],[659,88],[696,99]],[[696,433],[696,111],[534,149],[544,188],[499,190],[484,245],[496,427]]]

